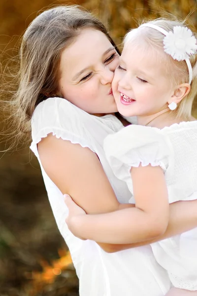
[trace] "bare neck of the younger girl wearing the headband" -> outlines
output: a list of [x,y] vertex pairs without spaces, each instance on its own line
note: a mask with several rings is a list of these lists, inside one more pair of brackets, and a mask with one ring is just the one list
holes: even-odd
[[[147,116],[137,116],[137,123],[139,125],[160,127],[163,125],[164,120],[166,123],[166,117],[170,116],[169,113],[170,113],[169,108],[165,108],[164,110],[159,111],[155,114],[151,114],[151,115],[147,115]],[[172,119],[172,117],[170,118],[169,121],[171,121],[171,119]]]

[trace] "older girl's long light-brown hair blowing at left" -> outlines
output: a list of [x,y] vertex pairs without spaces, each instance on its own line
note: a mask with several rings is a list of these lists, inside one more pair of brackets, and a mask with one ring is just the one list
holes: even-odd
[[12,113],[9,118],[9,123],[12,122],[10,135],[17,141],[24,133],[30,139],[35,107],[48,97],[62,96],[58,91],[61,53],[85,28],[105,34],[118,51],[102,22],[78,5],[48,9],[29,25],[22,37],[19,70],[8,81],[17,90],[1,91],[4,99],[11,93],[11,101],[6,106]]

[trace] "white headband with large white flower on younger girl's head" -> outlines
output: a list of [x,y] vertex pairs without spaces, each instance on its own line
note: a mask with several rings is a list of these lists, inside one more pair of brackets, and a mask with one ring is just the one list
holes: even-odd
[[173,32],[167,32],[163,28],[150,23],[139,26],[139,28],[141,27],[149,27],[165,35],[164,51],[171,55],[174,60],[186,61],[189,71],[189,83],[191,84],[192,65],[190,56],[197,53],[197,39],[192,35],[192,31],[187,27],[175,26]]

